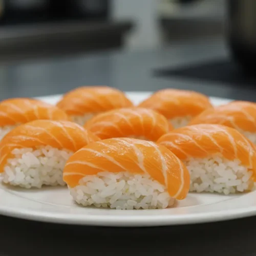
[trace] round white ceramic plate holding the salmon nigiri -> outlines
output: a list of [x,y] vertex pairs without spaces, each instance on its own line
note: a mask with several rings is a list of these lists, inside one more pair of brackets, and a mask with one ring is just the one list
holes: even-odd
[[[148,93],[127,93],[138,103]],[[60,96],[40,98],[55,103]],[[228,99],[211,98],[215,105]],[[256,215],[256,192],[242,196],[189,194],[175,208],[115,210],[76,205],[67,188],[21,189],[0,185],[0,214],[17,218],[97,226],[162,226],[230,220]]]

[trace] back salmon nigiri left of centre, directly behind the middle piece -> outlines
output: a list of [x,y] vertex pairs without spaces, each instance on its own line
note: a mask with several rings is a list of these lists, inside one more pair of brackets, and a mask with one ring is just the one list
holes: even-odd
[[96,114],[130,107],[133,103],[120,90],[106,86],[84,86],[65,94],[57,106],[74,122],[83,125]]

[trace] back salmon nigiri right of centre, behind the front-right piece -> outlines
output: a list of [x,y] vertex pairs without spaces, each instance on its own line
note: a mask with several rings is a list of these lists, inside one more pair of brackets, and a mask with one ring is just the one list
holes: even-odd
[[164,115],[175,129],[187,125],[193,117],[212,108],[207,96],[194,91],[176,89],[157,91],[138,106]]

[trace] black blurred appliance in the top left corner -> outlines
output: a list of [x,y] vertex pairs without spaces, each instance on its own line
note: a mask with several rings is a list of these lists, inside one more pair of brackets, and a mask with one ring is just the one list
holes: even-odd
[[[0,0],[1,25],[62,20],[106,20],[110,0]],[[2,8],[1,8],[2,7]],[[2,14],[2,15],[1,15]]]

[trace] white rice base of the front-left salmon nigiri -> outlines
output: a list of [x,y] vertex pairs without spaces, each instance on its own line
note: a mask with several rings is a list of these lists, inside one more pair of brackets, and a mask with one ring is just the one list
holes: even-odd
[[25,188],[65,185],[62,170],[73,154],[51,146],[16,148],[4,167],[3,182]]

